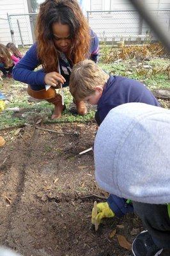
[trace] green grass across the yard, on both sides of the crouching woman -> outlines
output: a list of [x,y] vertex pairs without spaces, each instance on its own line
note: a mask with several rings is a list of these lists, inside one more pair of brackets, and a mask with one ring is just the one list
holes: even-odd
[[[146,84],[150,90],[170,88],[168,74],[166,68],[168,67],[169,59],[155,58],[150,61],[136,61],[125,60],[115,61],[114,63],[104,64],[99,63],[109,74],[117,76],[126,76],[137,81],[141,81]],[[147,68],[147,66],[150,66]],[[66,110],[63,112],[63,116],[59,120],[51,120],[52,110],[54,106],[43,100],[41,102],[28,102],[28,95],[24,90],[26,84],[13,79],[4,79],[3,83],[0,83],[0,90],[4,93],[13,93],[13,100],[6,105],[6,108],[19,107],[23,112],[23,116],[16,117],[13,115],[13,111],[7,111],[6,109],[0,113],[0,129],[4,127],[23,125],[25,123],[33,122],[36,115],[38,118],[42,118],[43,122],[51,124],[59,124],[64,122],[89,122],[93,120],[95,111],[90,110],[87,115],[79,116],[73,115],[69,111],[69,106],[72,102],[72,96],[68,88],[65,88],[65,104]],[[25,112],[24,112],[25,111]],[[33,118],[31,118],[33,117]]]

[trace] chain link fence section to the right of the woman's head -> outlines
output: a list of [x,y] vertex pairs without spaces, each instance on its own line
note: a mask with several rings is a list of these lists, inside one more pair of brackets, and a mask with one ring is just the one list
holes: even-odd
[[[164,26],[170,35],[170,9],[150,10],[150,15],[159,20],[160,26]],[[100,42],[157,40],[136,10],[93,11],[87,12],[87,18]]]

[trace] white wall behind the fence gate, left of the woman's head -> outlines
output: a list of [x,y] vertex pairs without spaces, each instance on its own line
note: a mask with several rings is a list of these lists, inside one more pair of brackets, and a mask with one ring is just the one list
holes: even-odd
[[[6,45],[12,42],[10,27],[7,20],[8,14],[28,13],[27,0],[0,0],[0,42]],[[6,20],[4,20],[6,19]],[[20,45],[20,35],[17,26],[19,20],[24,44],[33,44],[31,26],[28,16],[11,17],[12,29],[14,31],[15,44]]]

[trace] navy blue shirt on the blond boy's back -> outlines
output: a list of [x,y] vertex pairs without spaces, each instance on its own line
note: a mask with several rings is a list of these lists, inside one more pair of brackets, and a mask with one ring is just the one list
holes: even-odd
[[97,104],[95,118],[100,125],[112,108],[128,102],[141,102],[159,106],[157,99],[144,84],[127,77],[110,76]]

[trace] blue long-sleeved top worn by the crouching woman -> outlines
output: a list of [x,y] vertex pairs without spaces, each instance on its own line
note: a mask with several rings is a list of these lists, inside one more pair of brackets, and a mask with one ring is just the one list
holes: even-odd
[[[98,58],[98,37],[91,30],[91,45],[89,49],[89,59],[97,62]],[[33,90],[45,89],[45,71],[43,69],[34,71],[36,67],[41,65],[41,61],[38,59],[37,44],[33,44],[26,55],[15,65],[13,68],[13,78],[22,83],[27,83]],[[72,63],[68,61],[65,54],[61,52],[59,57],[59,68],[61,75],[65,77],[66,82],[63,87],[68,86],[70,81],[70,74],[72,72]],[[56,72],[58,72],[56,70]]]

